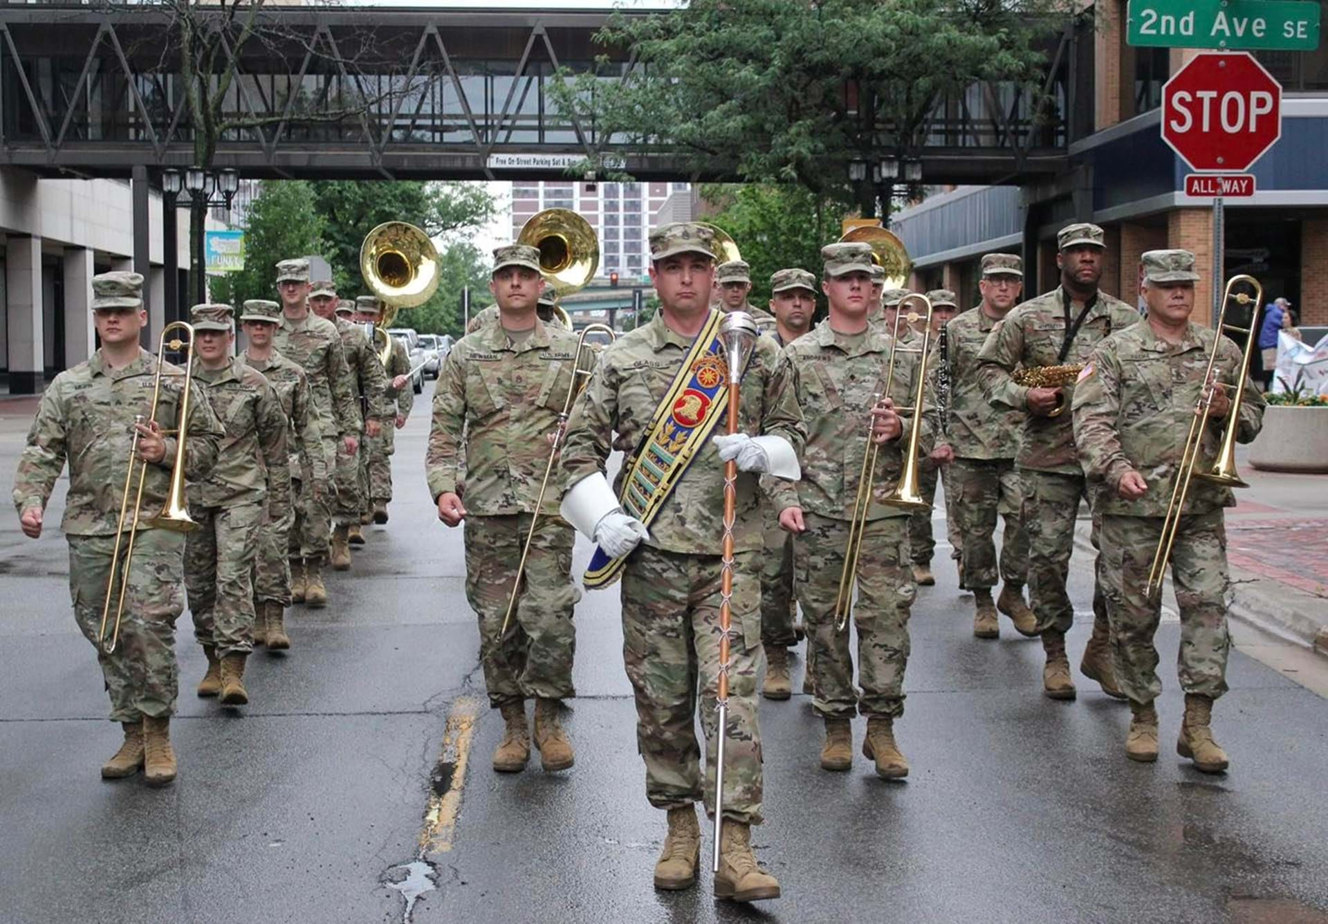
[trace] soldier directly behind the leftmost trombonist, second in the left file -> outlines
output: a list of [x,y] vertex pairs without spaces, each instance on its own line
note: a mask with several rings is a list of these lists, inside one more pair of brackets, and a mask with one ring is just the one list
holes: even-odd
[[185,543],[185,587],[194,637],[207,654],[198,694],[228,706],[248,702],[244,661],[254,651],[254,562],[264,515],[291,508],[287,414],[263,373],[231,358],[230,305],[194,305],[194,381],[226,437],[206,481],[189,486],[198,522]]

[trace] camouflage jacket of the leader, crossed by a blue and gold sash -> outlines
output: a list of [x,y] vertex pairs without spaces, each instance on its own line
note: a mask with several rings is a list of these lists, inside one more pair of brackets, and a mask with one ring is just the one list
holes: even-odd
[[[596,471],[603,473],[610,451],[618,449],[627,454],[615,485],[622,494],[632,454],[648,435],[655,409],[691,346],[692,339],[669,328],[660,311],[647,324],[604,348],[595,374],[572,409],[562,459],[564,489]],[[772,337],[756,339],[740,386],[740,417],[742,433],[784,437],[793,451],[802,455],[802,410],[793,393],[788,360]],[[725,430],[721,420],[713,433]],[[756,475],[740,471],[733,527],[736,551],[757,551],[765,546],[761,498]],[[722,515],[724,463],[708,439],[651,523],[645,544],[671,552],[718,555]]]

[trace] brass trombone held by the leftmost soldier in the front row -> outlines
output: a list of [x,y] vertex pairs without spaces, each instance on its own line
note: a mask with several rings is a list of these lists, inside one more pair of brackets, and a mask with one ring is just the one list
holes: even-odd
[[[186,343],[179,337],[166,340],[166,335],[174,331],[187,332],[189,341]],[[125,597],[129,592],[129,568],[134,560],[134,540],[138,538],[139,522],[142,522],[142,524],[147,528],[171,530],[174,532],[189,532],[190,530],[198,528],[198,523],[190,518],[189,508],[185,503],[185,445],[189,439],[189,394],[194,382],[194,328],[185,321],[173,321],[167,324],[162,328],[161,337],[157,340],[157,374],[153,376],[153,401],[150,410],[147,412],[147,425],[151,426],[157,422],[157,405],[161,401],[162,374],[165,372],[161,357],[167,349],[181,350],[186,346],[185,388],[179,397],[179,421],[175,426],[175,462],[170,473],[170,490],[166,493],[166,502],[162,504],[161,511],[155,516],[146,520],[141,520],[139,518],[142,515],[143,485],[147,481],[147,466],[151,463],[138,459],[137,427],[134,429],[133,439],[129,442],[129,467],[125,471],[125,490],[120,498],[120,519],[116,522],[116,544],[110,552],[110,576],[106,579],[106,599],[101,607],[101,628],[97,629],[97,647],[106,654],[112,654],[120,644],[120,623],[125,616]],[[135,422],[143,422],[141,414]],[[134,493],[134,508],[130,514],[129,491],[134,483],[135,467],[138,469],[138,489]],[[125,539],[126,523],[129,527],[129,536],[125,546],[125,562],[121,564],[120,544]],[[116,592],[117,576],[120,578],[118,593]],[[113,601],[116,604],[116,616],[108,636],[106,624],[112,623],[110,608]]]

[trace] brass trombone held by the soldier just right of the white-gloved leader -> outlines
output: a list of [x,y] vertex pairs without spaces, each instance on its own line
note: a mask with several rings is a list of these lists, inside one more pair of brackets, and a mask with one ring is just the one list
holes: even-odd
[[[908,312],[904,315],[904,303],[910,300],[916,300],[926,305],[927,313],[916,315]],[[912,323],[919,319],[926,320],[922,346],[900,346],[899,323]],[[922,497],[922,481],[918,471],[918,453],[922,441],[922,402],[927,388],[927,346],[931,343],[931,300],[926,295],[914,293],[904,296],[899,301],[899,313],[895,315],[892,339],[890,361],[886,365],[886,388],[876,396],[875,404],[879,404],[882,397],[890,397],[891,386],[895,381],[895,354],[903,352],[920,353],[922,356],[918,358],[918,381],[914,386],[912,405],[899,409],[902,414],[912,414],[908,427],[908,442],[904,450],[903,470],[899,474],[899,482],[890,494],[882,498],[882,503],[908,510],[930,507],[931,504]],[[862,454],[862,470],[858,473],[858,495],[853,501],[853,516],[849,520],[849,544],[843,552],[843,571],[839,572],[839,593],[835,596],[834,603],[834,628],[837,632],[843,632],[845,627],[849,625],[849,616],[853,615],[853,587],[858,576],[858,556],[862,552],[862,538],[867,531],[867,510],[871,507],[871,489],[876,478],[876,457],[880,453],[880,445],[872,438],[874,430],[875,420],[872,418],[867,425],[867,449]]]

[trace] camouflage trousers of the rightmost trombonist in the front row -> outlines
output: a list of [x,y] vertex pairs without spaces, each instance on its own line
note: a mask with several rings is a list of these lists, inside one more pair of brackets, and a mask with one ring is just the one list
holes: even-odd
[[[1135,702],[1162,693],[1158,652],[1153,645],[1161,600],[1143,588],[1162,534],[1157,516],[1102,518],[1102,581],[1112,613],[1116,681]],[[1181,609],[1181,689],[1216,700],[1227,692],[1227,532],[1222,511],[1181,519],[1171,550],[1171,579]]]

